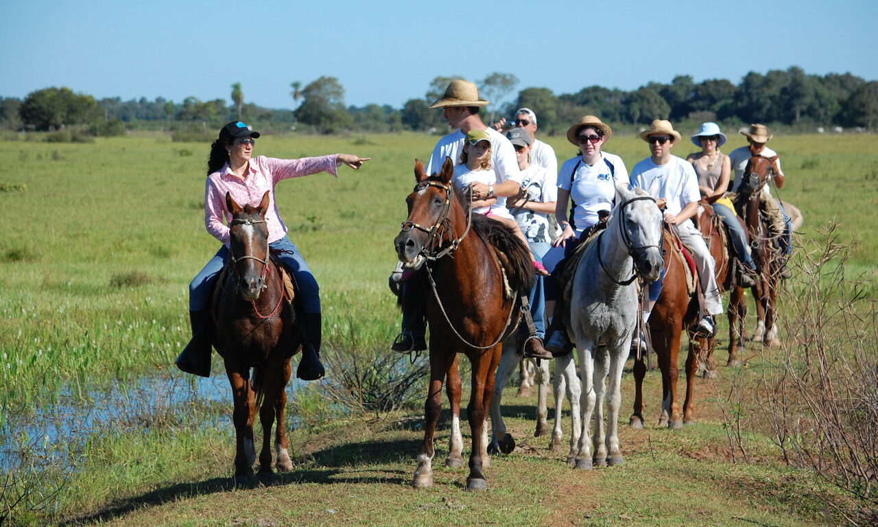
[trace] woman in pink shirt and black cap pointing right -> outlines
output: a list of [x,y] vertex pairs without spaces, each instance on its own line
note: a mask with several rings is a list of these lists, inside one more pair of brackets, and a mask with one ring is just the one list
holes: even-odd
[[274,187],[282,179],[322,171],[337,177],[335,170],[342,163],[357,170],[370,158],[349,154],[301,159],[275,159],[264,155],[254,158],[253,147],[259,135],[241,121],[233,121],[219,130],[219,139],[211,145],[205,184],[205,226],[207,232],[223,245],[189,285],[192,340],[176,357],[176,365],[187,373],[202,377],[210,375],[211,338],[208,324],[211,315],[208,301],[219,271],[228,258],[227,223],[232,220],[232,215],[226,209],[226,193],[230,193],[240,206],[256,206],[263,199],[263,194],[270,191],[269,210],[265,214],[269,245],[293,273],[299,299],[305,309],[304,320],[299,322],[303,346],[296,376],[306,380],[320,379],[324,375],[323,365],[320,364],[320,288],[299,249],[286,235],[287,228],[277,213]]

